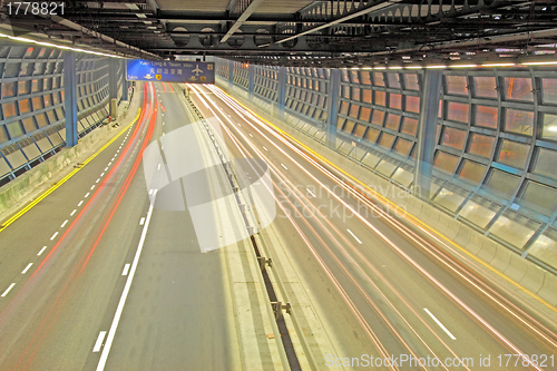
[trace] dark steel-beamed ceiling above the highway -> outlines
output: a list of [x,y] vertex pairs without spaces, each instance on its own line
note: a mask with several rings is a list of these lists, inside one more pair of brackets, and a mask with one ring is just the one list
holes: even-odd
[[549,0],[75,0],[70,22],[49,17],[36,18],[36,32],[119,48],[101,33],[160,58],[290,66],[485,62],[554,53],[557,39]]

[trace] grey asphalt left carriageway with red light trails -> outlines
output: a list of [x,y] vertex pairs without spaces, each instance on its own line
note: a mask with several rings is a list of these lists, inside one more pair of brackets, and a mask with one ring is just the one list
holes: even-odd
[[[155,85],[136,94],[138,123],[1,233],[0,291],[14,283],[0,297],[1,370],[101,363],[149,212],[138,154],[190,123]],[[187,213],[150,216],[104,369],[238,369],[223,255],[201,253]]]

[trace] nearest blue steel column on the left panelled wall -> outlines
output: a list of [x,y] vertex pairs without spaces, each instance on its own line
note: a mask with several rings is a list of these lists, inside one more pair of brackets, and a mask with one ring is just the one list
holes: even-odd
[[66,110],[66,147],[77,145],[76,52],[63,51],[63,109]]

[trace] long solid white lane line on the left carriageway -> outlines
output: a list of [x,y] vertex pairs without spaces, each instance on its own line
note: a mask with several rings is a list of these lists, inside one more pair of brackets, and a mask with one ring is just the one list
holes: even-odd
[[124,292],[121,293],[118,307],[116,309],[116,313],[114,315],[113,324],[110,325],[110,330],[108,331],[108,338],[105,343],[105,349],[102,349],[102,353],[100,354],[100,360],[99,364],[97,365],[97,371],[105,370],[105,365],[108,360],[108,353],[110,352],[110,346],[113,345],[114,336],[116,335],[116,330],[118,329],[118,322],[120,322],[121,312],[124,311],[124,305],[126,304],[126,299],[128,297],[129,289],[131,287],[131,282],[134,281],[134,275],[136,273],[137,264],[139,263],[139,256],[141,256],[143,245],[145,244],[147,230],[149,228],[150,216],[153,215],[153,208],[154,208],[153,206],[155,205],[156,196],[157,193],[155,192],[155,195],[149,206],[149,211],[147,212],[147,218],[143,227],[141,237],[139,238],[139,245],[137,246],[137,252],[136,255],[134,256],[134,262],[131,263],[131,269],[129,271],[128,279],[126,280],[126,285],[124,286]]

